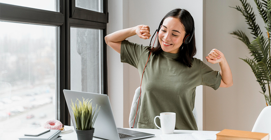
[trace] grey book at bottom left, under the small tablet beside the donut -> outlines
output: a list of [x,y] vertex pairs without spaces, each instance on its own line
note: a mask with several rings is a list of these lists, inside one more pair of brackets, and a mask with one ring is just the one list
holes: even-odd
[[39,136],[22,136],[19,138],[19,140],[55,140],[58,138],[58,136],[61,135],[60,130],[50,130],[49,132],[46,132],[44,134],[41,134]]

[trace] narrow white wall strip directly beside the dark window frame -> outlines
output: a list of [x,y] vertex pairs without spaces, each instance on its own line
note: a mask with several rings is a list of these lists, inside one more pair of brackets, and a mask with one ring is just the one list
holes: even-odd
[[[123,0],[108,1],[107,34],[123,29]],[[123,127],[123,64],[120,54],[107,46],[108,96],[117,127]]]

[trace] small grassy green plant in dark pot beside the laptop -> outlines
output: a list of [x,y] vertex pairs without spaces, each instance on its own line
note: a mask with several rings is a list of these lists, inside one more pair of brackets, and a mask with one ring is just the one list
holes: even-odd
[[[92,100],[92,99],[91,99]],[[77,99],[75,104],[71,102],[71,107],[73,109],[73,115],[76,122],[76,133],[78,140],[92,140],[94,128],[93,125],[99,113],[100,107],[95,115],[96,107],[92,107],[92,102],[89,99],[83,98],[83,103]],[[78,105],[76,102],[78,101]]]

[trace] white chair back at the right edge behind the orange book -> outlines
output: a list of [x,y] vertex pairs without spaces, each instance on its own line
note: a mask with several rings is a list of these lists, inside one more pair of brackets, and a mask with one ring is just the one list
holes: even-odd
[[271,133],[271,106],[263,108],[251,132]]

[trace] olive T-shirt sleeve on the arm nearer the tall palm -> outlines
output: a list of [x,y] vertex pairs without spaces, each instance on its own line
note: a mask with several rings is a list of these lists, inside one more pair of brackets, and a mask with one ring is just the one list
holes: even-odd
[[210,86],[214,90],[218,89],[221,83],[220,71],[213,70],[201,61],[201,85]]

